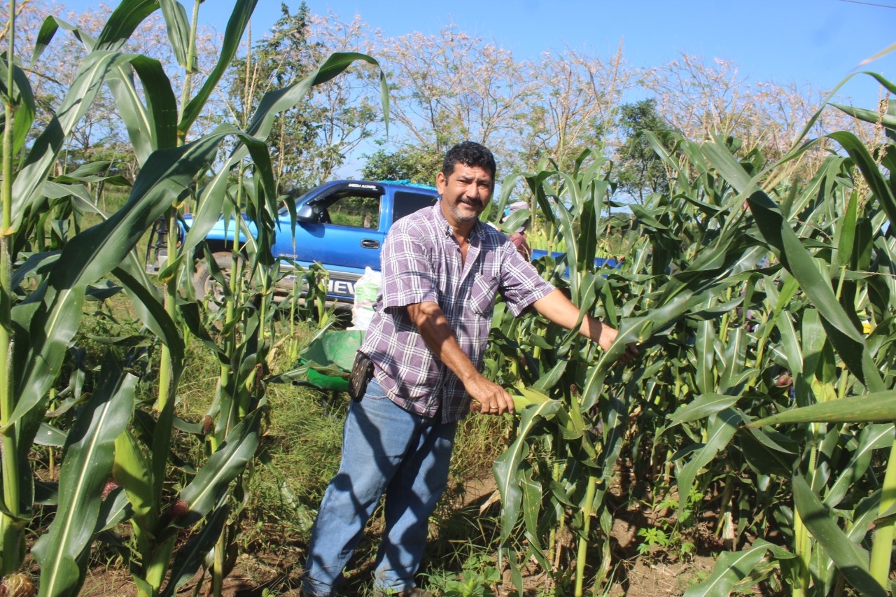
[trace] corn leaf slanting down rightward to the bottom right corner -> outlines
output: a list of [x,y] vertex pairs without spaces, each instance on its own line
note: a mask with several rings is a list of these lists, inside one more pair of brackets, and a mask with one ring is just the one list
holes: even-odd
[[849,584],[868,597],[886,597],[880,584],[868,573],[868,552],[846,536],[837,517],[825,509],[802,475],[793,477],[793,500],[797,512]]

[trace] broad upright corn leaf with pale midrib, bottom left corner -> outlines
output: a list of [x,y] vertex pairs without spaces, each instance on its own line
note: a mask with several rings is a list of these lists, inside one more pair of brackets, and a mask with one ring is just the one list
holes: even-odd
[[32,553],[40,563],[40,594],[74,595],[87,564],[84,554],[99,521],[100,494],[112,471],[115,439],[131,418],[137,379],[115,359],[103,363],[97,391],[75,420],[60,468],[59,506]]

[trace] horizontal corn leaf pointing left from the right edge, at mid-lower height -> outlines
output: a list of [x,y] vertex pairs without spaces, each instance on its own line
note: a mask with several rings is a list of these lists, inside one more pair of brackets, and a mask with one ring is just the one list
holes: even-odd
[[780,423],[889,423],[896,420],[896,390],[820,402],[754,420],[750,427]]

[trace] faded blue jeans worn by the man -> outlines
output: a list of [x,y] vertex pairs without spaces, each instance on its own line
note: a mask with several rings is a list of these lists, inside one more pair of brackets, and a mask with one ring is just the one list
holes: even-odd
[[457,423],[401,409],[371,380],[351,402],[342,430],[342,460],[314,521],[306,593],[329,597],[358,547],[365,524],[385,493],[385,529],[376,555],[375,587],[414,588],[429,515],[445,489]]

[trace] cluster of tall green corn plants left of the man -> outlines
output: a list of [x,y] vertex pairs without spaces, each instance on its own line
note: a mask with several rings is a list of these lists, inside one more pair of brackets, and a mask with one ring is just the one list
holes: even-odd
[[[198,7],[198,4],[197,1],[195,5]],[[4,574],[22,565],[22,532],[30,522],[35,502],[28,454],[42,429],[43,433],[56,437],[52,441],[42,439],[42,443],[64,448],[60,480],[46,488],[55,497],[42,497],[45,502],[58,504],[56,515],[33,549],[41,565],[42,595],[76,594],[83,581],[91,542],[99,532],[125,520],[130,521],[134,530],[137,557],[131,567],[138,593],[173,594],[193,577],[210,551],[215,560],[212,575],[215,588],[220,590],[228,559],[232,560],[230,548],[234,533],[231,530],[229,535],[225,534],[228,516],[232,515],[233,505],[245,497],[245,488],[239,486],[235,492],[232,481],[252,461],[259,443],[265,403],[264,363],[270,341],[264,326],[270,322],[270,312],[266,307],[259,312],[254,312],[252,307],[241,307],[242,318],[234,317],[228,322],[230,343],[221,349],[212,342],[209,331],[197,324],[201,320],[192,297],[192,283],[189,283],[192,276],[187,273],[192,272],[193,249],[207,231],[202,228],[220,216],[226,196],[233,188],[237,189],[236,203],[246,203],[246,210],[256,221],[263,224],[270,221],[276,209],[276,195],[263,139],[274,115],[302,99],[314,84],[328,81],[354,61],[375,64],[368,56],[334,55],[306,80],[266,95],[244,129],[221,125],[211,134],[188,141],[190,125],[236,52],[255,2],[237,2],[218,65],[194,98],[184,97],[181,110],[177,110],[175,94],[158,61],[120,51],[134,29],[158,10],[159,5],[168,22],[169,37],[179,62],[192,69],[194,54],[190,48],[194,37],[183,6],[174,0],[161,3],[125,0],[96,39],[55,17],[47,18],[32,62],[39,60],[42,49],[60,29],[73,31],[89,53],[69,94],[56,109],[56,117],[37,134],[30,147],[24,144],[34,104],[28,79],[17,65],[12,46],[4,61],[3,200],[7,233],[0,241],[0,253],[7,267],[0,268],[4,297],[0,312],[5,314],[0,316],[0,328],[7,335],[6,348],[0,351],[6,359],[4,390],[0,390],[0,427],[4,440],[0,463],[4,481],[0,564]],[[10,14],[14,13],[13,2]],[[195,15],[194,10],[194,22]],[[10,39],[14,39],[12,34]],[[143,95],[136,91],[133,74],[142,82]],[[111,215],[96,208],[82,185],[84,180],[96,181],[102,165],[90,165],[63,177],[49,177],[57,152],[65,144],[65,136],[90,108],[104,83],[116,96],[141,162],[130,198],[124,208]],[[225,139],[234,140],[236,149],[220,169],[212,172],[211,182],[197,189],[197,180],[207,175],[210,165],[216,163]],[[22,155],[21,167],[17,170],[13,169],[15,154]],[[239,179],[234,186],[231,172],[246,158],[252,160],[253,176],[248,179],[251,182]],[[172,206],[192,196],[198,197],[196,226],[187,235],[182,253],[169,252],[171,262],[161,276],[167,298],[162,299],[142,273],[134,247],[144,230],[159,216],[165,213],[170,216]],[[91,204],[104,221],[71,238],[57,235],[61,251],[35,253],[35,248],[45,247],[42,229],[47,213],[64,200]],[[262,288],[270,288],[265,278],[270,275],[270,252],[265,249],[270,243],[271,227],[261,228],[266,234],[253,239],[249,264],[261,280]],[[92,285],[109,274],[115,276],[114,289],[125,290],[130,296],[146,334],[164,347],[157,410],[146,412],[134,408],[135,379],[122,364],[127,356],[113,350],[102,365],[90,400],[74,400],[65,409],[56,409],[56,412],[78,410],[75,425],[66,432],[47,425],[47,410],[56,395],[54,386],[67,349],[81,321],[84,298],[98,291],[108,292]],[[184,279],[188,283],[178,287],[177,282]],[[180,288],[185,289],[183,293]],[[228,375],[222,375],[227,381],[220,387],[217,402],[220,416],[208,428],[177,420],[174,414],[172,397],[176,395],[184,366],[184,339],[178,321],[183,321],[220,355],[222,371],[226,370]],[[239,341],[234,342],[237,336]],[[176,425],[209,437],[210,454],[205,463],[197,464],[194,474],[178,484],[180,489],[172,495],[164,487],[170,440]],[[110,478],[117,489],[106,495],[103,488]],[[231,519],[230,526],[236,522],[238,519]],[[185,528],[193,529],[194,533],[175,556],[175,541]]]

